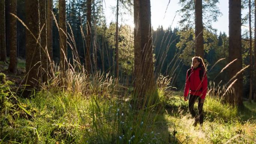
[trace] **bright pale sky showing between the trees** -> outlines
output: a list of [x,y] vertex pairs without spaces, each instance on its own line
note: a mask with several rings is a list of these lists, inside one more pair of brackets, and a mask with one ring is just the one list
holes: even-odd
[[[179,5],[179,0],[170,0],[170,4],[167,8],[169,0],[150,0],[151,3],[151,23],[152,27],[155,30],[159,25],[162,25],[164,29],[168,28],[171,25],[171,28],[179,27],[178,21],[180,20],[181,16],[176,11],[181,8]],[[105,8],[105,15],[107,24],[111,21],[115,21],[116,13],[110,9],[110,7],[116,6],[116,0],[105,0],[106,5],[104,4]],[[222,13],[221,16],[218,17],[217,22],[213,22],[213,28],[216,28],[218,33],[221,31],[222,33],[225,32],[228,35],[228,0],[219,0],[217,6]],[[165,13],[165,10],[167,11]],[[246,10],[242,10],[242,17],[243,14],[246,13]],[[164,17],[165,15],[165,17]],[[120,16],[119,16],[120,17]],[[129,24],[133,26],[133,16],[132,15],[124,15],[122,20],[122,24]],[[121,18],[119,19],[121,21]],[[120,22],[119,22],[120,23]],[[242,32],[246,29],[246,27],[242,27]]]

